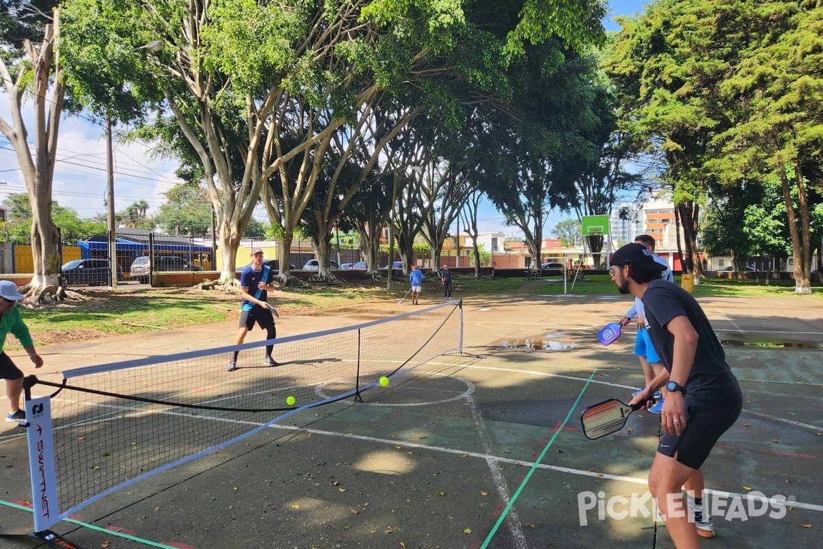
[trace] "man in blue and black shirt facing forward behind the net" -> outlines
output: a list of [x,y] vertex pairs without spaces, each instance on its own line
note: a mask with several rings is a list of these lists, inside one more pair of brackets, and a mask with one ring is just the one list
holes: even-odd
[[[272,310],[268,308],[266,302],[267,292],[275,289],[272,284],[273,278],[274,272],[268,265],[263,265],[263,249],[253,249],[252,263],[249,263],[240,273],[240,296],[243,298],[243,305],[240,307],[240,331],[235,337],[235,345],[243,342],[249,330],[254,328],[254,323],[258,323],[260,328],[266,330],[266,339],[277,337]],[[266,346],[266,356],[263,357],[264,365],[277,366],[277,362],[272,358],[273,349],[273,345]],[[238,354],[239,351],[231,354],[229,365],[226,366],[227,371],[237,370]]]

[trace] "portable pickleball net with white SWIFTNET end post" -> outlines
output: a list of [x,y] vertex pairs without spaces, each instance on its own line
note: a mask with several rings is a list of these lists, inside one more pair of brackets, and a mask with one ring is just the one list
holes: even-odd
[[[277,366],[263,363],[274,345]],[[237,370],[226,365],[239,351]],[[463,351],[463,306],[447,302],[388,319],[239,346],[28,376],[26,418],[36,537],[106,495],[210,454],[281,421],[379,386],[382,376]],[[32,398],[31,388],[53,388]]]

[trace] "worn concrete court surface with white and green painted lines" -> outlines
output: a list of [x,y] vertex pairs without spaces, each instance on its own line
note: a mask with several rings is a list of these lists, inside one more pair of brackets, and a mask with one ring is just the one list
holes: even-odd
[[[80,547],[673,547],[643,503],[658,416],[635,413],[627,429],[601,440],[579,431],[584,407],[611,397],[628,401],[642,375],[631,330],[610,347],[596,338],[630,298],[583,295],[584,285],[577,291],[469,298],[463,356],[418,367],[365,393],[365,402],[291,416],[89,505],[77,523],[53,530]],[[717,537],[702,547],[819,547],[823,301],[780,295],[700,302],[746,398],[740,420],[704,466],[720,514],[731,516],[715,514]],[[390,301],[283,318],[278,335],[411,307]],[[234,333],[230,323],[44,348],[38,375],[219,347]],[[252,332],[247,341],[259,336]],[[4,425],[0,500],[12,505],[0,505],[0,525],[30,526],[30,514],[13,506],[30,500],[23,430]],[[763,512],[745,496],[756,492],[784,496],[782,514],[780,505]],[[606,512],[609,500],[633,494],[634,516]],[[586,525],[579,501],[593,504],[583,511]],[[615,513],[630,509],[621,501],[614,500]],[[40,546],[0,537],[0,547]]]

